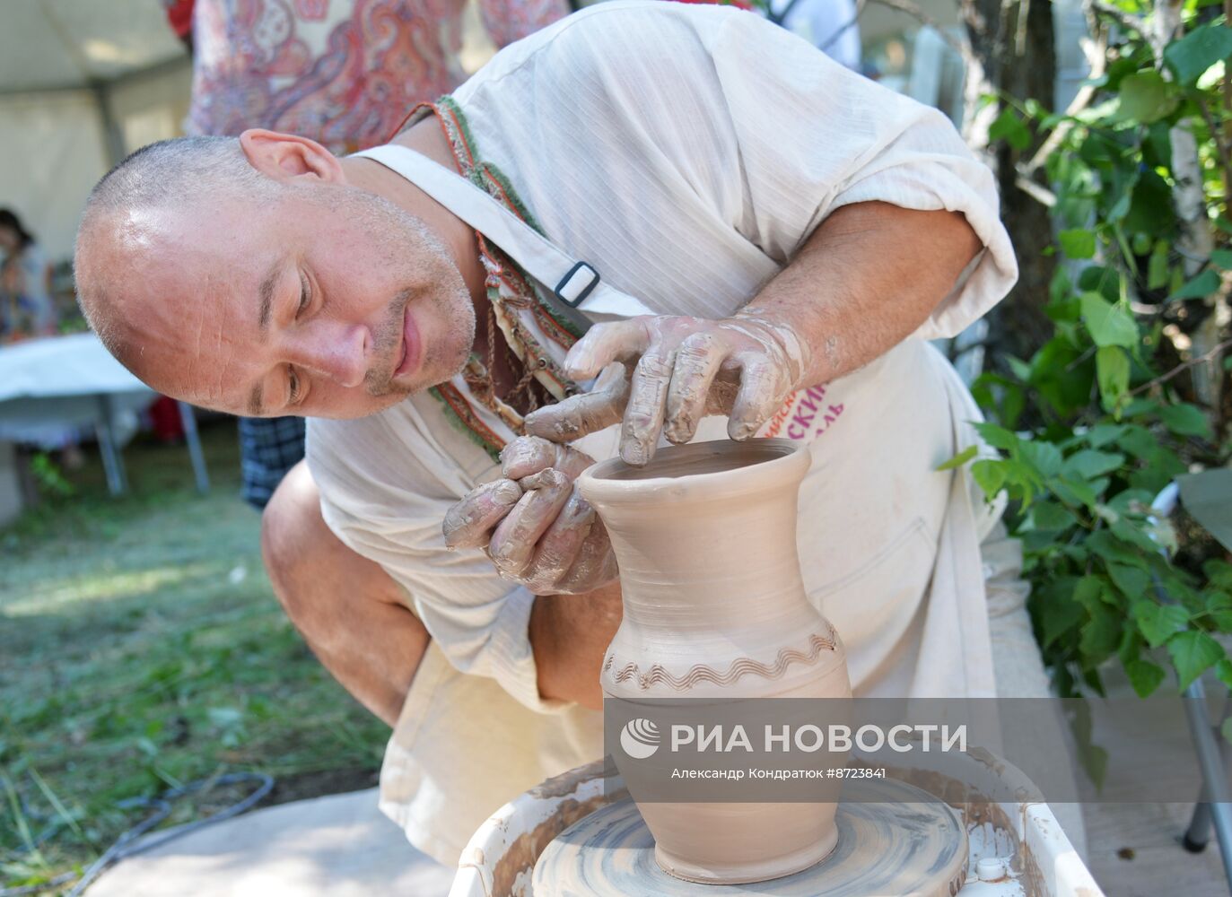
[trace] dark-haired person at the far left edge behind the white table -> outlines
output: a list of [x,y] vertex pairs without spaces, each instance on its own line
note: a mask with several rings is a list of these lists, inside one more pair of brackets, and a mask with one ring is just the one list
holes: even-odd
[[49,336],[55,333],[51,267],[21,218],[0,208],[0,335]]

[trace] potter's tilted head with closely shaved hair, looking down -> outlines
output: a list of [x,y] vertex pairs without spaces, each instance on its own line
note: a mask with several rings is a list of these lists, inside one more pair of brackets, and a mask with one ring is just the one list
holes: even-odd
[[134,153],[90,195],[75,269],[81,309],[121,363],[234,414],[371,414],[455,376],[474,339],[440,239],[293,134]]

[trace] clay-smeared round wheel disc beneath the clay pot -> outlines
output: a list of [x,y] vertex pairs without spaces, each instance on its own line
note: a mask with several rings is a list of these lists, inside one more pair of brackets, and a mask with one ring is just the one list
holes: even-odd
[[[893,779],[851,780],[839,805],[834,851],[811,869],[749,885],[697,885],[654,861],[654,839],[632,800],[596,810],[562,832],[535,864],[535,897],[951,897],[967,872],[957,813]],[[878,801],[872,803],[870,801]]]

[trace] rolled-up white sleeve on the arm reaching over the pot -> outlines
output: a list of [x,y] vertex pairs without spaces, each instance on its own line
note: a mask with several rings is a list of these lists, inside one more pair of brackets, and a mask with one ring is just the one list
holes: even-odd
[[739,14],[727,18],[710,47],[747,184],[745,235],[790,259],[843,206],[961,212],[984,249],[915,335],[952,336],[1000,301],[1018,262],[995,181],[949,118],[782,28]]

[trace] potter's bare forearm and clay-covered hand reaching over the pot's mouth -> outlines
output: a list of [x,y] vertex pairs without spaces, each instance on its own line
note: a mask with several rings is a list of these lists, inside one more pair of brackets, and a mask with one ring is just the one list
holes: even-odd
[[526,431],[568,441],[623,421],[620,455],[646,465],[659,435],[687,442],[706,414],[749,439],[793,389],[866,365],[917,330],[981,242],[962,214],[859,202],[827,217],[733,317],[641,317],[599,324],[565,359],[578,381],[632,371],[535,412]]

